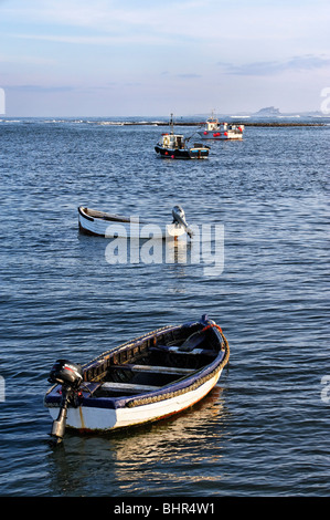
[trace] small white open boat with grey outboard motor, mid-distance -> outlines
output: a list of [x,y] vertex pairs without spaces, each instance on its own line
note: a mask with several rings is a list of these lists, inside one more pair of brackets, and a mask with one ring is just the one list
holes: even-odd
[[185,214],[181,206],[172,208],[173,220],[170,223],[149,222],[137,217],[123,217],[83,206],[78,207],[79,230],[86,235],[105,238],[168,238],[192,237],[192,230],[187,223]]

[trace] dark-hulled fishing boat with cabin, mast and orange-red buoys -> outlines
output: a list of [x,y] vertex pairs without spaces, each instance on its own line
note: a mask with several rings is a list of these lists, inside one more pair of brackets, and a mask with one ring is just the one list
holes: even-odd
[[169,159],[205,159],[209,157],[210,146],[200,143],[189,145],[190,137],[184,138],[181,134],[174,134],[173,117],[170,118],[171,132],[161,134],[155,150],[160,157]]

